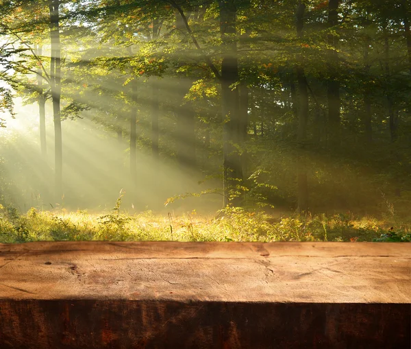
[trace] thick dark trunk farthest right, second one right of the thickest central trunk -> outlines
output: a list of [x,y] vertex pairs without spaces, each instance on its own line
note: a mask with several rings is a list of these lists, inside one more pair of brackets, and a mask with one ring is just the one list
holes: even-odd
[[[328,3],[328,26],[330,28],[338,25],[338,3],[339,0],[329,0]],[[329,145],[336,150],[340,146],[340,82],[337,71],[339,69],[338,37],[330,33],[328,35],[328,45],[332,47],[328,52],[329,79],[327,86],[328,99],[328,125],[329,125]]]

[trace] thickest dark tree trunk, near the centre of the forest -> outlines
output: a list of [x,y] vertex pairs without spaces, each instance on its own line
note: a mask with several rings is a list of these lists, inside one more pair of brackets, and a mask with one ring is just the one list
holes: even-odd
[[[223,169],[224,206],[239,204],[239,197],[231,197],[239,180],[242,180],[241,160],[234,143],[238,141],[239,106],[238,88],[232,84],[238,81],[238,58],[236,44],[236,5],[234,0],[220,0],[220,32],[223,41],[221,62],[221,105],[223,113]],[[230,200],[232,199],[232,200]]]

